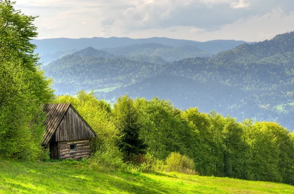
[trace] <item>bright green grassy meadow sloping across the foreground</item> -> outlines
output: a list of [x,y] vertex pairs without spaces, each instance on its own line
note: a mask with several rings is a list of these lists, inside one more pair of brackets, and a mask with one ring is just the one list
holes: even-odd
[[293,194],[285,184],[180,173],[103,173],[85,166],[0,161],[0,194]]

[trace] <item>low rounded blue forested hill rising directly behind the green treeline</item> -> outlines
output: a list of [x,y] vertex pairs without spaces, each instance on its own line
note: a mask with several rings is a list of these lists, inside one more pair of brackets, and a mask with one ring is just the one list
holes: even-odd
[[175,107],[198,107],[203,112],[216,109],[223,113],[228,107],[242,100],[246,92],[220,83],[200,83],[186,77],[157,75],[108,93],[101,92],[99,96],[116,99],[125,94],[132,98],[140,97],[148,100],[156,96],[160,99],[171,100]]

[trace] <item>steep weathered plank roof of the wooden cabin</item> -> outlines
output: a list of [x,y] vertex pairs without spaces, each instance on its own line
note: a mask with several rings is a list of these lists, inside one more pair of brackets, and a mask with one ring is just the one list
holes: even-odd
[[[69,108],[73,108],[71,104],[43,104],[43,110],[46,112],[47,118],[44,121],[45,133],[43,134],[42,145],[47,145],[51,140],[56,129],[59,127],[61,121],[63,120],[66,112]],[[88,125],[88,123],[79,115],[79,113],[73,108],[77,115],[84,121],[84,123],[93,131],[95,131]]]

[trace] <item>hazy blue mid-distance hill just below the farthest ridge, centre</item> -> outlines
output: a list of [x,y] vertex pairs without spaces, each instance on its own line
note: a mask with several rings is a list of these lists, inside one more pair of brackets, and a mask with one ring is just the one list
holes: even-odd
[[191,57],[210,57],[212,54],[191,45],[166,46],[158,43],[133,44],[117,48],[103,49],[114,55],[159,56],[172,62]]

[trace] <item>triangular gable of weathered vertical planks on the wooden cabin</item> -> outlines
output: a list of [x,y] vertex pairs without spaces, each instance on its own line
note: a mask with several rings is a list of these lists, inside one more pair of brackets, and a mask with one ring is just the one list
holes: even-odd
[[55,133],[55,142],[72,141],[78,139],[90,139],[95,137],[92,129],[78,113],[70,107]]

